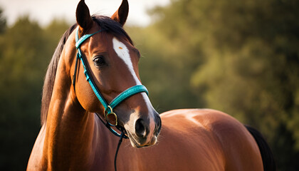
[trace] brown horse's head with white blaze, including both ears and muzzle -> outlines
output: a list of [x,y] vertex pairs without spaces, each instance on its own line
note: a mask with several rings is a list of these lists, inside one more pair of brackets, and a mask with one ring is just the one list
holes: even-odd
[[[123,0],[112,17],[90,16],[88,6],[81,0],[76,10],[78,38],[70,45],[65,44],[68,48],[65,56],[68,56],[66,61],[70,64],[69,74],[73,76],[73,98],[78,99],[86,112],[98,113],[110,125],[117,125],[130,138],[133,147],[144,147],[157,142],[161,119],[140,81],[140,52],[122,28],[128,11],[127,0]],[[80,42],[84,36],[88,38]],[[85,66],[78,64],[78,54]],[[93,86],[89,79],[93,81]],[[110,107],[117,96],[132,91],[128,88],[134,89],[136,86],[143,89]],[[99,98],[103,98],[107,106]]]

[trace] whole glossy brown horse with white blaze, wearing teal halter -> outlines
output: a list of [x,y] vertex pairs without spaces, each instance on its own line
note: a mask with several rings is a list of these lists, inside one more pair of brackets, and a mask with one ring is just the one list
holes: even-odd
[[128,11],[122,0],[111,17],[90,16],[78,3],[46,72],[27,170],[275,170],[261,134],[226,113],[154,110]]

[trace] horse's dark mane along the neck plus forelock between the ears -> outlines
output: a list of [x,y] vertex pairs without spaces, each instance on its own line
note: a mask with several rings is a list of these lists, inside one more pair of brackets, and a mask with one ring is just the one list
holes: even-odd
[[[100,28],[105,29],[107,33],[112,33],[112,35],[116,37],[125,36],[127,40],[131,44],[133,44],[130,36],[128,36],[122,26],[116,21],[110,19],[110,17],[93,15],[92,19],[100,26]],[[68,40],[70,33],[72,33],[77,26],[77,24],[73,24],[73,26],[70,26],[70,28],[68,28],[68,30],[63,33],[63,36],[61,37],[61,40],[59,41],[58,46],[53,53],[51,62],[48,66],[45,81],[43,83],[43,94],[41,99],[41,125],[44,125],[47,120],[48,108],[53,93],[59,58],[61,57],[65,42]]]

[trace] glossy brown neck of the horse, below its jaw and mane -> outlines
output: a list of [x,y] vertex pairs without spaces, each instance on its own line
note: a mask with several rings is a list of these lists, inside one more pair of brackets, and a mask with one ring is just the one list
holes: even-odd
[[51,170],[85,170],[93,162],[95,142],[103,144],[99,140],[103,136],[95,115],[86,112],[75,98],[66,66],[61,58],[48,110],[43,164]]

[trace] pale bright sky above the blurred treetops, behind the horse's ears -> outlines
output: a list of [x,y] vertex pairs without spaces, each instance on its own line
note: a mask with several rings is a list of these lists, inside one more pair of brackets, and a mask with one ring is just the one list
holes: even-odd
[[[150,16],[147,9],[154,6],[166,6],[170,0],[128,0],[129,16],[127,24],[147,26]],[[46,26],[53,19],[65,19],[75,22],[75,9],[79,0],[0,0],[0,7],[4,9],[9,26],[14,24],[20,16],[28,15],[30,19]],[[118,9],[122,0],[85,0],[90,14],[112,16]]]

